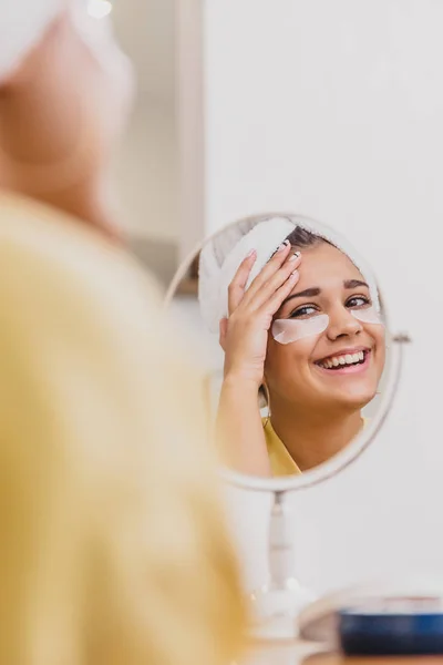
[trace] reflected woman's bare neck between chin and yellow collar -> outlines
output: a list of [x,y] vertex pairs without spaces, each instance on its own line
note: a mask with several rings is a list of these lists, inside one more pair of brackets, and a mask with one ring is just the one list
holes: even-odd
[[288,409],[287,405],[279,408],[274,403],[270,420],[300,471],[312,469],[340,452],[363,426],[360,410],[331,413],[321,409],[312,418],[303,416],[301,409]]

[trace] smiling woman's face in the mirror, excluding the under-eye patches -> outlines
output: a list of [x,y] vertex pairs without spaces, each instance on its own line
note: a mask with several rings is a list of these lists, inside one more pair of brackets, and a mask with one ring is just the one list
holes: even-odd
[[[371,306],[368,285],[346,254],[327,243],[302,250],[300,279],[275,319],[329,316],[321,334],[282,345],[269,334],[265,378],[271,400],[305,408],[361,409],[375,395],[385,359],[384,327],[351,310]],[[364,351],[364,362],[341,369],[321,364]],[[328,364],[330,365],[330,364]]]

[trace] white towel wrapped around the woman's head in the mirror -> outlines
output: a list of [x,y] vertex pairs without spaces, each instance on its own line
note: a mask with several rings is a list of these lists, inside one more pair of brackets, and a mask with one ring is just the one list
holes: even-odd
[[[234,225],[235,226],[235,225]],[[253,279],[268,263],[278,245],[280,245],[296,227],[303,228],[313,235],[321,237],[338,249],[343,252],[352,260],[354,266],[363,275],[370,288],[373,305],[380,311],[380,299],[377,282],[372,270],[365,264],[356,249],[340,234],[319,222],[301,217],[299,215],[288,216],[264,216],[257,218],[257,223],[249,223],[250,231],[245,233],[233,247],[225,243],[225,254],[220,252],[223,246],[223,234],[229,234],[227,229],[222,231],[213,237],[202,249],[199,259],[198,298],[200,303],[202,317],[210,332],[218,332],[219,321],[228,316],[228,287],[234,276],[251,249],[257,252],[257,259],[249,276],[246,288]],[[235,234],[230,233],[233,238]],[[218,239],[220,238],[220,239]]]

